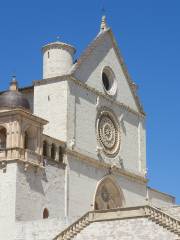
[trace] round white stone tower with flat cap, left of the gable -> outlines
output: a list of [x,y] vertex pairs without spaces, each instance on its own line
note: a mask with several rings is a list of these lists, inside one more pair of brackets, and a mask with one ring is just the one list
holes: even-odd
[[67,74],[73,65],[75,48],[63,42],[45,45],[43,51],[43,79]]

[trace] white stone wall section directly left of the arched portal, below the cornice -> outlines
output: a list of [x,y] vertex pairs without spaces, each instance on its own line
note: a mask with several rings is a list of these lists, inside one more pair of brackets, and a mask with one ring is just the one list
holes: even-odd
[[70,156],[68,161],[70,167],[69,217],[78,218],[93,209],[97,182],[107,174],[107,171],[91,167]]

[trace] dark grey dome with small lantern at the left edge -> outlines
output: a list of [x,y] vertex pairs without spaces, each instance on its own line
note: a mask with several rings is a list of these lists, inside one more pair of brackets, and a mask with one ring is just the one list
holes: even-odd
[[0,95],[0,108],[24,108],[30,110],[29,102],[18,91],[16,81],[11,82],[9,91]]

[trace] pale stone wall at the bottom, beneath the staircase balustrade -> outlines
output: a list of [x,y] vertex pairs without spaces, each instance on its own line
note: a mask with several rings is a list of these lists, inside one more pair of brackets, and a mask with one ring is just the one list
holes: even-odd
[[74,240],[176,240],[178,236],[146,218],[94,222]]

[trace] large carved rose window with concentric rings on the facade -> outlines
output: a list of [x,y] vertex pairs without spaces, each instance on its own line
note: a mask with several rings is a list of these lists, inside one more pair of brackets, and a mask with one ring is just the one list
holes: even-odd
[[98,114],[97,138],[106,155],[117,155],[120,148],[120,128],[116,116],[109,109],[103,108]]

